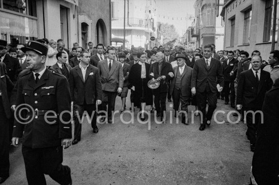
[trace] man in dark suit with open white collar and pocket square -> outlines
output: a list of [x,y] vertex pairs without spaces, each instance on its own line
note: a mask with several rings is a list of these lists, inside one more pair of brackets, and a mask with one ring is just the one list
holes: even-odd
[[[92,117],[91,127],[93,132],[98,132],[96,125],[97,114],[95,113],[96,105],[101,104],[101,82],[98,68],[89,64],[90,54],[84,51],[80,55],[81,63],[71,69],[70,73],[70,91],[72,102],[74,102],[75,114],[75,136],[73,145],[81,140],[81,125],[84,111]],[[78,113],[78,115],[77,115]],[[80,119],[79,119],[80,118]]]

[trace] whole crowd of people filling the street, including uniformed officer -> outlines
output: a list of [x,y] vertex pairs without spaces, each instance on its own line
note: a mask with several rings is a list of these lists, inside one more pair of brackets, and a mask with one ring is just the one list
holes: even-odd
[[[276,182],[268,184],[278,184],[279,160],[273,148],[278,146],[278,140],[274,141],[278,130],[278,50],[271,51],[266,62],[257,50],[251,56],[239,50],[216,52],[215,44],[195,50],[162,45],[145,50],[132,45],[129,50],[123,45],[106,48],[101,43],[94,47],[92,42],[84,49],[76,42],[69,51],[62,39],[44,38],[15,46],[0,40],[0,60],[0,183],[9,177],[10,142],[18,146],[23,136],[29,184],[46,184],[44,174],[60,184],[72,184],[71,169],[61,164],[62,146],[68,148],[81,140],[85,111],[88,115],[97,112],[91,120],[93,133],[98,132],[97,116],[102,123],[113,123],[116,97],[121,97],[122,113],[129,106],[126,97],[130,90],[129,109],[142,111],[142,121],[150,106],[148,111],[166,122],[168,101],[173,102],[173,116],[181,113],[181,122],[187,125],[188,106],[193,105],[201,131],[211,125],[218,99],[224,100],[236,110],[234,116],[247,122],[246,135],[255,152],[251,184],[266,184],[261,182],[267,177]],[[23,104],[34,111],[17,111]],[[52,124],[45,119],[49,111]],[[257,111],[263,114],[253,114]],[[27,124],[25,118],[30,116],[33,119]],[[264,124],[260,124],[261,116]]]

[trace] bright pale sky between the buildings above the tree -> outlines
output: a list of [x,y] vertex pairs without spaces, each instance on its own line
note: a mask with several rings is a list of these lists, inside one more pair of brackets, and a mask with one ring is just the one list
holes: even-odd
[[188,20],[186,25],[185,17],[187,13],[195,15],[193,7],[195,0],[156,0],[156,3],[158,5],[158,21],[173,24],[179,35],[182,36],[187,26],[191,26],[192,23],[192,21]]

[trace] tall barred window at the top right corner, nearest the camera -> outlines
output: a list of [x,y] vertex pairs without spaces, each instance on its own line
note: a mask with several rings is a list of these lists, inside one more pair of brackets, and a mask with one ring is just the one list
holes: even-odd
[[[277,10],[279,3],[277,3]],[[273,29],[273,10],[274,10],[274,3],[273,0],[266,0],[265,3],[265,16],[264,16],[264,32],[263,32],[263,41],[268,42],[272,39],[272,29]],[[276,33],[275,33],[275,40],[277,40],[278,34],[278,20],[279,14],[276,15]]]

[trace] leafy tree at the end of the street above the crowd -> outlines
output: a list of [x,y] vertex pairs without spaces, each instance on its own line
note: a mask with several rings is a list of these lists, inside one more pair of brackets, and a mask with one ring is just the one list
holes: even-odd
[[173,43],[179,39],[179,34],[172,24],[161,23],[158,30],[158,38],[161,38],[161,35],[163,36],[163,45],[168,45],[170,47],[173,47]]

